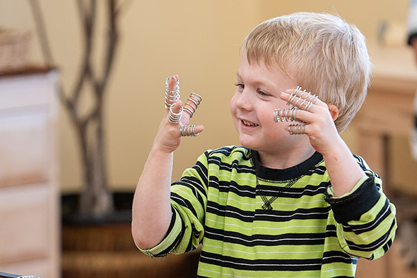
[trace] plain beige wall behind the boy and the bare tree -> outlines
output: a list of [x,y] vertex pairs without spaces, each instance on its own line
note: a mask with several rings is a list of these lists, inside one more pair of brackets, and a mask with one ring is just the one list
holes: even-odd
[[[40,4],[63,83],[70,88],[81,49],[75,1],[40,0]],[[382,20],[405,22],[407,0],[131,1],[120,22],[120,48],[106,99],[111,187],[134,190],[164,113],[164,82],[171,74],[181,78],[183,99],[192,91],[202,95],[202,105],[192,122],[206,126],[198,138],[183,139],[174,158],[174,178],[193,165],[204,150],[238,144],[229,117],[229,99],[234,92],[240,41],[264,19],[302,10],[336,11],[357,24],[369,40],[375,40]],[[0,1],[0,26],[35,31],[28,2]],[[34,35],[30,58],[42,60]],[[100,30],[99,38],[103,36],[104,31]],[[101,50],[96,53],[98,58]],[[60,181],[64,191],[75,190],[81,181],[76,148],[74,133],[63,111]]]

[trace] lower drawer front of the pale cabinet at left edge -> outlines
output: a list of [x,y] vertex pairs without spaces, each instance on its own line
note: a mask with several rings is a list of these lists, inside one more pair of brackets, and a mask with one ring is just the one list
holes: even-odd
[[42,183],[0,188],[0,264],[49,255],[50,194]]

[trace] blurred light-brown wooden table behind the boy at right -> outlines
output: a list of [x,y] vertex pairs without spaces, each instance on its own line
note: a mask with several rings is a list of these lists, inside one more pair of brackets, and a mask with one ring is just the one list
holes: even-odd
[[[414,124],[414,96],[417,90],[417,65],[408,47],[369,46],[375,65],[366,103],[354,118],[350,129],[356,134],[357,149],[375,172],[381,175],[384,192],[391,199],[389,140],[409,136]],[[408,146],[405,146],[408,147]],[[417,190],[417,188],[416,188]],[[411,278],[417,271],[407,270],[399,254],[398,238],[382,259],[359,259],[357,278]]]

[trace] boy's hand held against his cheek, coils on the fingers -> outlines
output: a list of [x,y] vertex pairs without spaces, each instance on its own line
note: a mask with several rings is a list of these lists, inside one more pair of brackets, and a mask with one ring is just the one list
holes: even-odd
[[[295,92],[294,89],[286,90],[286,92],[281,92],[280,97],[288,101],[293,92]],[[338,117],[338,108],[334,104],[326,104],[318,98],[312,101],[313,103],[308,107],[307,105],[312,99],[313,95],[302,95],[299,92],[297,97],[291,99],[290,105],[292,107],[295,104],[295,107],[299,108],[295,112],[295,118],[305,123],[303,131],[309,136],[311,145],[320,154],[325,154],[330,151],[330,148],[334,146],[337,140],[340,140],[339,133],[334,124],[334,120]],[[294,124],[302,123],[294,122]],[[287,124],[284,129],[289,131],[290,124]]]

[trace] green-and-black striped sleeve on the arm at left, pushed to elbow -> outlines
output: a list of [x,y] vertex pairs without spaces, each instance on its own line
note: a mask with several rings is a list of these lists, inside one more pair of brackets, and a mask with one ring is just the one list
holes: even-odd
[[181,254],[195,250],[204,236],[204,215],[207,204],[208,152],[186,169],[179,181],[171,185],[172,219],[165,238],[147,250],[150,257]]

